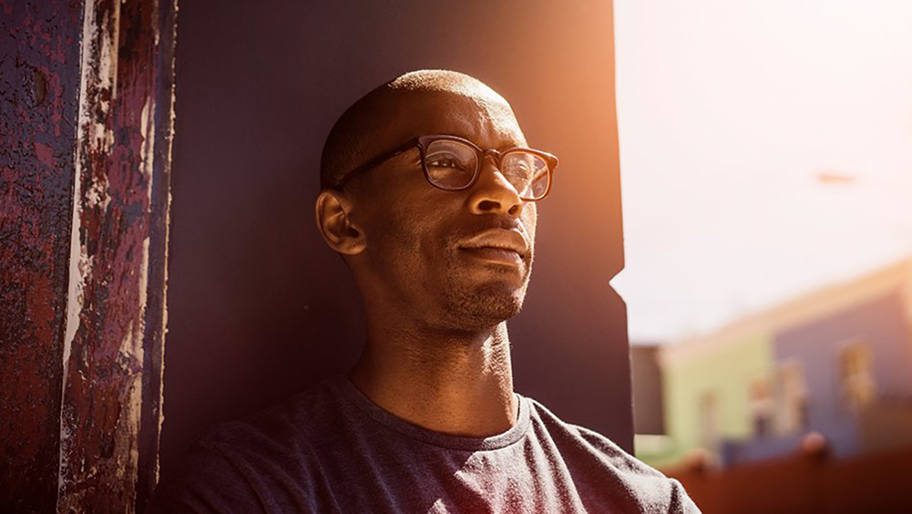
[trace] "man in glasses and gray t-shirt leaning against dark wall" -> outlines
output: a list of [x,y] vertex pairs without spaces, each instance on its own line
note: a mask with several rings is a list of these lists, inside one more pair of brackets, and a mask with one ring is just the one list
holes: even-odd
[[557,165],[526,147],[506,100],[452,71],[352,105],[326,141],[316,224],[354,275],[365,350],[347,377],[216,428],[151,510],[699,512],[513,393],[506,320]]

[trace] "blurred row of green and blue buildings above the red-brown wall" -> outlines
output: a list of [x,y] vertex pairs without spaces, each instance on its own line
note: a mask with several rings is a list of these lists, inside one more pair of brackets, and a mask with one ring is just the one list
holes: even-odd
[[[637,456],[731,466],[820,435],[834,456],[912,446],[912,258],[633,357]],[[659,414],[661,414],[659,416]]]

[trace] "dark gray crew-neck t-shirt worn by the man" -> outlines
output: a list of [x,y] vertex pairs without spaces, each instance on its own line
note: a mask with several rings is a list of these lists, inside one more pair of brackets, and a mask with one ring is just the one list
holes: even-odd
[[513,428],[461,437],[326,381],[217,426],[147,512],[700,512],[678,481],[517,398]]

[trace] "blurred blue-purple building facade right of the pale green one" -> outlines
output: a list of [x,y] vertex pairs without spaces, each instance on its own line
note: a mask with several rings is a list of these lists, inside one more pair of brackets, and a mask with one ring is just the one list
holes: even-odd
[[[736,465],[795,451],[823,435],[836,457],[912,446],[912,261],[793,302],[772,322],[768,419],[724,441]],[[786,309],[788,310],[788,309]]]

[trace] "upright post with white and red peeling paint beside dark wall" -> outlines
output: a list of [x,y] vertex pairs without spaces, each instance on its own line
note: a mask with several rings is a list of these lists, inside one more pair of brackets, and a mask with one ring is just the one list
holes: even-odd
[[[88,121],[80,125],[85,137],[79,141],[85,193],[75,212],[79,262],[88,263],[88,269],[82,273],[79,325],[61,418],[69,425],[68,436],[61,439],[62,462],[79,466],[60,468],[60,511],[141,509],[140,493],[146,496],[154,485],[140,482],[140,459],[157,467],[157,446],[147,450],[152,455],[142,456],[140,430],[143,413],[159,418],[158,406],[144,403],[143,388],[161,387],[143,374],[161,375],[161,362],[150,364],[145,351],[147,321],[156,333],[162,323],[161,314],[147,316],[148,300],[162,304],[159,312],[164,300],[163,282],[154,279],[150,290],[151,271],[161,275],[165,265],[163,259],[150,259],[152,219],[167,210],[161,200],[152,201],[155,134],[161,130],[152,113],[159,88],[171,90],[171,83],[158,82],[161,66],[153,66],[161,57],[154,44],[161,22],[158,8],[154,2],[116,0],[87,8],[83,37],[91,66],[83,69],[88,85],[81,102]],[[167,51],[170,66],[171,49]],[[171,125],[164,130],[170,134]],[[158,241],[157,246],[163,245],[166,241]]]

